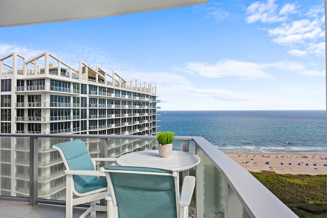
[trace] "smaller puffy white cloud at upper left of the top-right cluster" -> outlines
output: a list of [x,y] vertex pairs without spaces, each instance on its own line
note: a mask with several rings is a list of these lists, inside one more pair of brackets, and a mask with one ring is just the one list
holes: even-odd
[[282,22],[288,18],[288,14],[295,13],[295,5],[286,4],[281,10],[277,10],[278,5],[275,0],[268,0],[266,3],[255,2],[252,3],[246,11],[248,16],[246,22],[253,23],[256,21],[261,22]]

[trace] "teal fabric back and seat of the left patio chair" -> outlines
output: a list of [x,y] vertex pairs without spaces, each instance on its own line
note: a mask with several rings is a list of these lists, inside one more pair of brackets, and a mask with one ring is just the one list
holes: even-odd
[[[58,150],[65,164],[66,169],[70,170],[87,170],[94,171],[95,165],[87,151],[85,143],[80,140],[66,141],[55,144],[54,149]],[[85,188],[89,183],[94,181],[96,176],[79,176],[74,175],[74,192],[85,193],[89,189]]]

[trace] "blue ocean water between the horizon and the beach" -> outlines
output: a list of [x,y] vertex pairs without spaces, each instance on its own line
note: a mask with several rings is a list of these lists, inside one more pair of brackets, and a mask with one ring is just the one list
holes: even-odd
[[160,131],[203,136],[223,152],[326,153],[324,110],[160,112]]

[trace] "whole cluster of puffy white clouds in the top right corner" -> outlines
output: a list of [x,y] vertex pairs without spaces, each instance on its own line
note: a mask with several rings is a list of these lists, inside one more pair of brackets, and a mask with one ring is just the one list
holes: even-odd
[[[294,4],[285,4],[278,12],[278,5],[274,0],[255,2],[247,8],[246,21],[253,23],[261,22],[281,22],[279,27],[274,29],[262,28],[267,30],[272,41],[286,46],[288,53],[293,56],[316,55],[324,57],[324,5],[321,4],[310,8],[302,8]],[[291,14],[298,16],[306,15],[305,19],[297,19],[291,22]]]

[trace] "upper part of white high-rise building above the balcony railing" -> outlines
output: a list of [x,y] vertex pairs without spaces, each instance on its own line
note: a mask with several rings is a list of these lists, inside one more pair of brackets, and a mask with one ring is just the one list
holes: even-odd
[[152,135],[156,87],[126,81],[79,61],[74,69],[49,52],[0,59],[1,133]]

